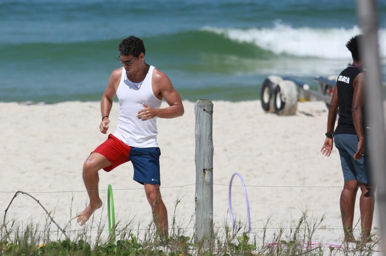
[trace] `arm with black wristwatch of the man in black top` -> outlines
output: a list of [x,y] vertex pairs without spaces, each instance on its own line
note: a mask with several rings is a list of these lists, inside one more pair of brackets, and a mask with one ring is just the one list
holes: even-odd
[[[338,106],[339,106],[338,88],[335,86],[334,93],[332,94],[332,99],[330,102],[330,109],[328,110],[327,132],[329,133],[334,132],[335,120],[336,120],[336,114],[337,114],[336,110],[338,109]],[[333,145],[334,145],[334,139],[326,137],[320,152],[322,152],[322,154],[325,156],[330,156]]]

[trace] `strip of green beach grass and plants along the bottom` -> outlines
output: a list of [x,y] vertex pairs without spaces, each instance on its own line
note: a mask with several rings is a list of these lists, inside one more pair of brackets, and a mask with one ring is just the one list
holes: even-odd
[[224,221],[214,227],[209,245],[204,247],[188,231],[191,223],[182,226],[178,222],[175,209],[179,201],[175,202],[168,237],[160,236],[153,222],[146,230],[141,230],[139,224],[135,228],[134,219],[118,220],[108,234],[102,215],[96,227],[91,219],[89,226],[76,232],[71,231],[70,220],[64,233],[50,229],[50,218],[44,225],[33,221],[23,225],[12,220],[1,228],[0,255],[373,255],[380,248],[376,233],[370,242],[342,242],[339,246],[315,242],[325,217],[315,219],[307,211],[297,222],[278,228],[270,227],[272,221],[268,218],[261,232],[254,233],[243,231],[246,226],[241,221],[236,229]]

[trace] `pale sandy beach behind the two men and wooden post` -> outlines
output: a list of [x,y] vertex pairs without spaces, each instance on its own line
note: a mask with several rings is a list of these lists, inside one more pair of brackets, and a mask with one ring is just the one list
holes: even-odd
[[[252,232],[260,235],[268,218],[271,233],[280,225],[289,227],[302,211],[308,210],[310,220],[325,216],[315,234],[316,240],[341,242],[339,196],[343,175],[335,148],[329,158],[320,153],[327,126],[324,103],[299,103],[295,116],[266,114],[259,101],[213,103],[215,226],[230,222],[227,184],[232,174],[239,172],[248,185]],[[176,219],[191,233],[194,221],[189,220],[195,212],[196,182],[194,103],[184,101],[184,107],[183,117],[158,119],[157,125],[161,193],[168,208],[169,224],[175,201],[180,198]],[[117,116],[115,103],[110,115],[111,133],[115,131]],[[54,218],[62,226],[82,210],[88,201],[81,176],[83,162],[107,138],[99,131],[100,118],[99,102],[0,103],[0,208],[6,209],[15,191],[23,190],[36,192],[32,195],[47,209],[55,209]],[[134,228],[146,228],[151,222],[150,206],[143,187],[132,177],[131,163],[110,173],[100,171],[101,198],[106,202],[106,189],[112,184],[117,219],[132,219]],[[234,185],[240,184],[235,178]],[[359,219],[358,198],[354,222]],[[233,187],[232,200],[235,216],[245,222],[246,204],[241,187]],[[46,220],[43,209],[26,195],[14,200],[7,217],[19,223]],[[96,211],[94,217],[94,222],[105,222],[106,207]],[[374,228],[379,228],[378,219],[375,206]],[[95,225],[91,227],[88,223],[86,228]],[[73,220],[71,229],[81,227]]]

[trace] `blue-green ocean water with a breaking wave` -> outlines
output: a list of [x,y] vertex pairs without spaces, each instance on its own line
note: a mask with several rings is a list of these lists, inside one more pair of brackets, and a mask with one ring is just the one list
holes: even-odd
[[[377,10],[386,81],[386,0]],[[100,100],[130,35],[183,99],[259,99],[268,75],[338,75],[360,33],[351,0],[0,0],[0,24],[2,102]]]

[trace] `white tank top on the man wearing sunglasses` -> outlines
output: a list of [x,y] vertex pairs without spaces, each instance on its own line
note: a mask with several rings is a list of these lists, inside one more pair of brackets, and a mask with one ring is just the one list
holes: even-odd
[[142,121],[137,118],[138,111],[145,107],[159,108],[162,100],[155,97],[151,86],[154,67],[150,66],[145,79],[140,83],[131,82],[122,68],[121,81],[117,89],[119,118],[114,136],[126,145],[133,147],[158,147],[157,118]]

